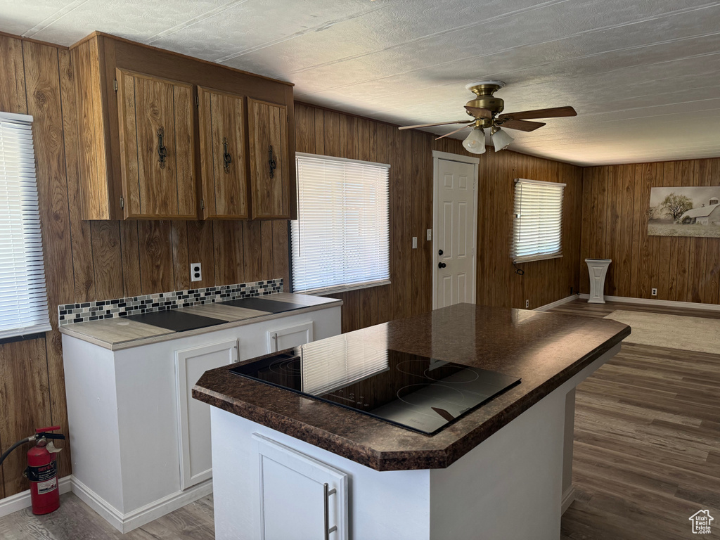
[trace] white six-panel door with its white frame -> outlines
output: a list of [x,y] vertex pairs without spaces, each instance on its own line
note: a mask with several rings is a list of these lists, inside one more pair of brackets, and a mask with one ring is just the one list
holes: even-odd
[[478,163],[433,150],[433,310],[475,303]]

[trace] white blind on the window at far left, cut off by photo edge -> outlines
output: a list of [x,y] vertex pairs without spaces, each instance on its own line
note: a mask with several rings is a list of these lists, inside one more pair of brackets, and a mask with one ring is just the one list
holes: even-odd
[[0,112],[0,338],[47,330],[32,117]]

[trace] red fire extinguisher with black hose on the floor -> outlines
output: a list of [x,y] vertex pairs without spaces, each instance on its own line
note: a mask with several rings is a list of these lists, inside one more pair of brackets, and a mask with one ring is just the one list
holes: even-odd
[[36,429],[35,435],[17,441],[0,456],[2,464],[18,446],[35,441],[35,446],[27,451],[27,469],[24,474],[27,480],[30,480],[30,502],[32,513],[36,516],[54,512],[60,507],[57,456],[61,449],[55,448],[53,439],[62,440],[65,436],[61,433],[50,433],[58,429],[60,426]]

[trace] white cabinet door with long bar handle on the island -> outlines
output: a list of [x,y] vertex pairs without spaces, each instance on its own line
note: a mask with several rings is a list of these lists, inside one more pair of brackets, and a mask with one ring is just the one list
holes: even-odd
[[262,540],[348,539],[348,475],[253,434]]

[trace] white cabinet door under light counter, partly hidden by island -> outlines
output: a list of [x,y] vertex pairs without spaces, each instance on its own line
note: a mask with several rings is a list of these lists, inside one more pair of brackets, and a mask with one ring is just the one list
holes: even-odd
[[192,399],[192,387],[208,369],[233,364],[237,359],[237,340],[175,351],[182,490],[212,477],[210,405]]

